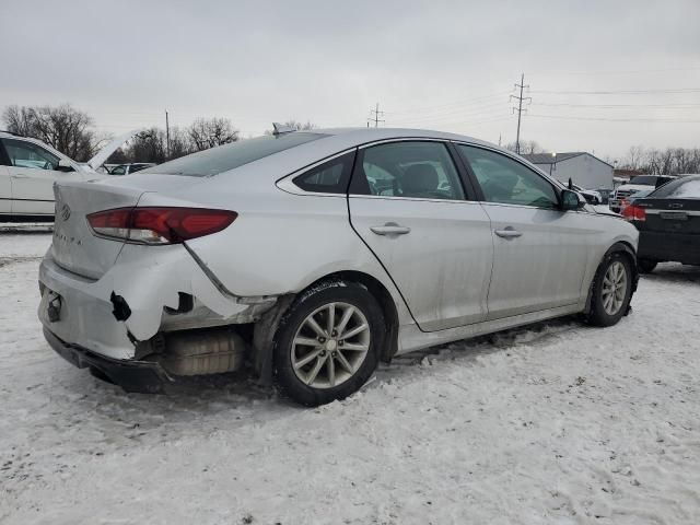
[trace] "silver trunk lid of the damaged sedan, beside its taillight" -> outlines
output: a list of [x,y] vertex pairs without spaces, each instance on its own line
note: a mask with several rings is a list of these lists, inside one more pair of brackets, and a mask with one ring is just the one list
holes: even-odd
[[114,265],[124,242],[95,236],[86,215],[133,207],[144,192],[141,188],[95,183],[55,184],[54,261],[79,276],[100,279]]

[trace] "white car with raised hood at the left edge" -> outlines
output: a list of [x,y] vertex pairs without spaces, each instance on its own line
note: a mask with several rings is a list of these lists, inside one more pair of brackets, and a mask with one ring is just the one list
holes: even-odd
[[133,135],[118,137],[80,163],[40,140],[0,131],[0,222],[54,221],[54,183],[108,176],[96,170]]

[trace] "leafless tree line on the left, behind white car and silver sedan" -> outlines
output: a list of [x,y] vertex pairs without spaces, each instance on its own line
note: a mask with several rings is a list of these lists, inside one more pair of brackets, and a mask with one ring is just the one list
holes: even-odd
[[[93,118],[70,104],[16,106],[2,112],[2,129],[38,139],[79,162],[90,160],[112,137],[100,136]],[[288,120],[295,129],[313,129],[312,122]],[[266,133],[271,133],[270,130]],[[187,127],[173,126],[170,133],[158,126],[141,130],[107,160],[107,163],[162,163],[197,151],[241,140],[229,118],[197,118]]]

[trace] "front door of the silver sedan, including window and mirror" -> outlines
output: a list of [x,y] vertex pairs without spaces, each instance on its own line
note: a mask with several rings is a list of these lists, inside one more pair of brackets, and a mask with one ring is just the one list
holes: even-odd
[[488,318],[578,303],[596,221],[585,212],[561,211],[553,184],[525,164],[486,148],[456,148],[491,219]]

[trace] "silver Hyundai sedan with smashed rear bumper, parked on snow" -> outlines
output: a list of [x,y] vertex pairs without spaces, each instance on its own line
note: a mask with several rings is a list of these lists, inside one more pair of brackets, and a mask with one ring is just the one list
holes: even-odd
[[247,363],[324,404],[399,353],[571,314],[612,325],[637,288],[632,225],[451,133],[278,128],[55,194],[45,337],[133,392]]

